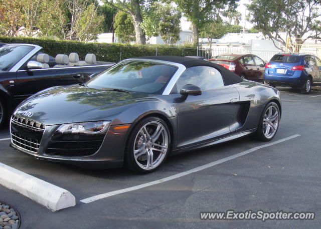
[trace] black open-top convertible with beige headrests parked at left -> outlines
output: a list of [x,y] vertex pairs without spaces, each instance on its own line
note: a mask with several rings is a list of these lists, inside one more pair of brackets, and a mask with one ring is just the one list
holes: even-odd
[[[42,47],[28,44],[7,44],[0,48],[0,126],[14,108],[29,96],[52,86],[83,83],[114,63],[91,63],[68,66],[67,55],[57,55],[55,66],[47,64],[49,55]],[[74,60],[78,55],[72,54]],[[92,55],[89,55],[92,57]],[[56,62],[59,63],[56,63]],[[75,62],[76,63],[76,62]]]

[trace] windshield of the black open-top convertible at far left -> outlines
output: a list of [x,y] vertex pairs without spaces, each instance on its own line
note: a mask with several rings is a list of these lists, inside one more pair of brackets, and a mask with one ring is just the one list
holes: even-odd
[[9,71],[24,56],[26,56],[33,46],[27,45],[7,45],[0,48],[0,71]]

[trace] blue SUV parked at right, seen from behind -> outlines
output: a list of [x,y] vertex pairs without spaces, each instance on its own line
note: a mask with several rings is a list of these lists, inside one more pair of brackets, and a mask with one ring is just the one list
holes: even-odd
[[290,86],[308,94],[312,85],[321,85],[321,60],[304,53],[280,53],[265,65],[264,81],[271,86]]

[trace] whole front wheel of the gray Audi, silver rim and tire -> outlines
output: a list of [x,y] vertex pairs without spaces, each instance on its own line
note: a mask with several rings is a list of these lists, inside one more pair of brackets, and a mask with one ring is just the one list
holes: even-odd
[[168,156],[170,139],[168,126],[162,119],[144,119],[136,125],[129,137],[126,167],[139,173],[156,170]]

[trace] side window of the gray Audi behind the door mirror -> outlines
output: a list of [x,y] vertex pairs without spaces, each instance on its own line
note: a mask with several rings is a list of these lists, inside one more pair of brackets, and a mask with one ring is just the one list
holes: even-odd
[[201,90],[212,90],[224,86],[221,73],[212,67],[196,66],[186,69],[176,82],[177,92],[186,84],[194,84]]

